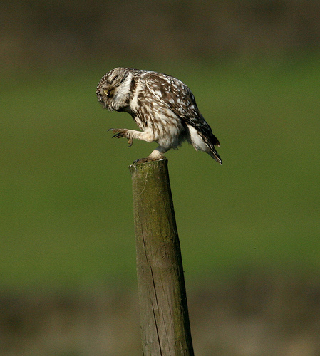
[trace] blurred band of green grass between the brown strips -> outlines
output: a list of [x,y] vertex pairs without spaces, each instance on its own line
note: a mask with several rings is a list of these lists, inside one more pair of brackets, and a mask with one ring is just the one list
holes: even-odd
[[167,153],[187,281],[320,267],[319,54],[227,63],[86,63],[1,73],[0,283],[78,288],[135,283],[128,165],[156,144],[97,103],[111,68],[174,75],[221,142],[220,167],[183,145]]

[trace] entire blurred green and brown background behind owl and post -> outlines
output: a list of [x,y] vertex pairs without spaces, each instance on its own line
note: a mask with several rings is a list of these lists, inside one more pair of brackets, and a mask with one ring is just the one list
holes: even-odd
[[111,140],[115,66],[180,78],[221,143],[166,154],[196,355],[319,355],[320,3],[2,1],[0,28],[0,355],[140,355],[156,144]]

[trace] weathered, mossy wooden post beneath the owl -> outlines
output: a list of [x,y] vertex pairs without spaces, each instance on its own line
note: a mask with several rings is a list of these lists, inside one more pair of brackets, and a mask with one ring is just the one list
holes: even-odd
[[130,165],[143,355],[194,355],[167,159]]

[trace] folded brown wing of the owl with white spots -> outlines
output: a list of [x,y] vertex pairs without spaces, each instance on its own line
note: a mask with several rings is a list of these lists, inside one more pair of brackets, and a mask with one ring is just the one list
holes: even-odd
[[181,80],[170,75],[151,72],[145,78],[145,84],[153,95],[167,106],[177,117],[195,127],[200,135],[212,145],[220,146],[220,142],[213,135],[211,127],[200,114],[195,102],[195,96]]

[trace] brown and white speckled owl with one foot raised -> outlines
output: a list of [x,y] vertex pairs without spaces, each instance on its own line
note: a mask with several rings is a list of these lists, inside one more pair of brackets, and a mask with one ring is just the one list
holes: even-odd
[[157,142],[158,147],[147,158],[149,162],[164,158],[165,152],[187,140],[195,150],[207,152],[222,164],[215,146],[220,143],[200,114],[195,97],[180,80],[134,68],[115,68],[103,75],[97,96],[104,108],[128,112],[142,131],[110,129],[113,137]]

